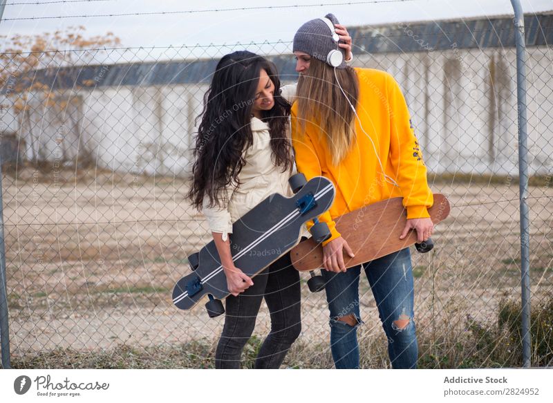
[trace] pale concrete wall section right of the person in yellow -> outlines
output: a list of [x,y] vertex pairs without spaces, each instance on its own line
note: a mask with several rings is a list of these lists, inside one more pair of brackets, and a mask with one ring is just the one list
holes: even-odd
[[[397,79],[431,171],[518,174],[514,49],[361,55],[357,66]],[[553,166],[553,71],[545,48],[528,48],[530,171]]]

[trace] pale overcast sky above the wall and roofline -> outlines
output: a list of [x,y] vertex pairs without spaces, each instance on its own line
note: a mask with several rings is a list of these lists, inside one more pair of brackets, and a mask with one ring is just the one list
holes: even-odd
[[[48,2],[53,0],[39,0]],[[349,0],[351,3],[359,0]],[[380,1],[381,3],[377,3]],[[50,3],[37,6],[11,5],[35,0],[7,0],[0,35],[39,34],[82,25],[88,35],[113,32],[122,46],[192,46],[195,44],[249,43],[250,41],[290,41],[294,32],[308,19],[333,12],[346,26],[375,25],[399,21],[435,21],[512,15],[510,0],[375,0],[365,4],[317,6],[285,9],[257,9],[219,12],[195,12],[176,15],[77,17],[9,21],[21,17],[83,16],[134,12],[211,10],[214,8],[251,8],[266,6],[306,6],[314,3],[348,3],[348,0],[105,0]],[[525,13],[553,10],[553,0],[522,0]]]

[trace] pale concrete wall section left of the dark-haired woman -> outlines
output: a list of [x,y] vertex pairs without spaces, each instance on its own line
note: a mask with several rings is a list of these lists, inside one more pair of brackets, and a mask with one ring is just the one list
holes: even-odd
[[3,131],[26,142],[28,160],[79,164],[135,174],[183,176],[189,171],[194,119],[207,85],[96,88],[31,93],[26,111],[14,113],[3,97]]

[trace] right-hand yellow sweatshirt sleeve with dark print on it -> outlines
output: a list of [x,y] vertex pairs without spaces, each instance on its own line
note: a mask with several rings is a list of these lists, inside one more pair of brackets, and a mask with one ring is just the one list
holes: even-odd
[[407,218],[427,218],[430,216],[427,207],[433,205],[427,167],[400,86],[391,75],[386,80],[390,103],[390,160],[397,173],[397,185],[402,192]]

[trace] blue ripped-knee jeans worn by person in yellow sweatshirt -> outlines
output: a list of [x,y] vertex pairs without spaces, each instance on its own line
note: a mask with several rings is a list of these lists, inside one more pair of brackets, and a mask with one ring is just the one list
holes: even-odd
[[[413,272],[409,248],[349,268],[344,273],[322,270],[330,310],[330,349],[336,368],[359,368],[357,326],[337,319],[353,314],[358,325],[363,323],[359,317],[359,274],[362,267],[388,338],[392,367],[416,368],[418,345],[413,321]],[[406,319],[409,323],[405,326]]]

